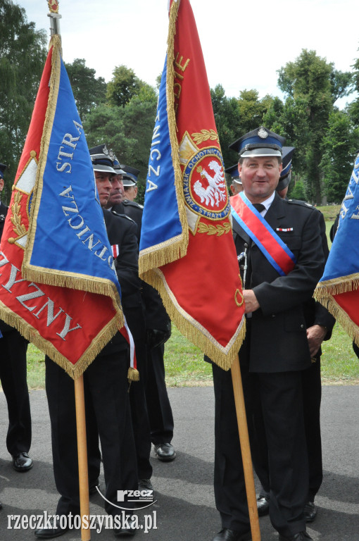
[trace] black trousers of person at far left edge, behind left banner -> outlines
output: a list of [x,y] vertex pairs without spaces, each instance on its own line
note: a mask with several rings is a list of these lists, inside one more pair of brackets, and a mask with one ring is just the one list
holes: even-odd
[[6,447],[10,454],[29,452],[31,413],[26,371],[27,340],[10,328],[0,338],[0,379],[8,404]]

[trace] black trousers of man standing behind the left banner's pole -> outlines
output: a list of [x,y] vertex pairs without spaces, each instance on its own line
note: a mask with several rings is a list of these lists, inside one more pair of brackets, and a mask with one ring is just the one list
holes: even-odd
[[[46,357],[53,473],[61,497],[56,513],[80,513],[74,382]],[[84,372],[87,444],[100,436],[106,483],[105,509],[119,514],[118,490],[137,489],[137,464],[127,382],[127,353],[98,356]],[[92,423],[95,417],[95,423]],[[98,432],[97,432],[98,430]],[[91,456],[90,483],[99,474],[99,455]],[[129,506],[129,504],[127,504]]]

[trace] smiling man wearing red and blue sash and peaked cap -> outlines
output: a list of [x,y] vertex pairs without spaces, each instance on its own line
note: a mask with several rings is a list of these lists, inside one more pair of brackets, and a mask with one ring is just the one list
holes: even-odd
[[[283,144],[283,137],[260,126],[231,145],[239,153],[243,185],[243,192],[231,198],[246,313],[239,359],[260,480],[258,441],[267,440],[270,520],[279,541],[305,541],[311,537],[304,516],[308,458],[301,376],[311,356],[304,303],[322,275],[325,256],[316,209],[281,199],[275,191]],[[214,363],[213,384],[214,488],[222,521],[213,541],[246,541],[251,533],[232,377]]]

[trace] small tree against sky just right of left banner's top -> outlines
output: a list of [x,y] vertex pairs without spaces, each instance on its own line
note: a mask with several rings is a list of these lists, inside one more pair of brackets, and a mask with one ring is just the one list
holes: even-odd
[[84,58],[75,58],[72,64],[65,63],[68,78],[73,89],[77,111],[82,122],[87,113],[106,101],[106,82],[95,77],[96,70],[88,68]]

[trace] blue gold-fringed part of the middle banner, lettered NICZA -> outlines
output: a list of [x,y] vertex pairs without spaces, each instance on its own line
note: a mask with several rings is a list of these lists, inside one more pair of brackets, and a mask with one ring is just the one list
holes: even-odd
[[[170,123],[175,128],[175,119],[168,118],[173,110],[173,96],[166,92],[167,56],[160,80],[159,99],[155,128],[153,130],[149,170],[146,179],[146,206],[141,226],[141,256],[156,254],[157,265],[174,261],[186,254],[188,242],[187,220],[180,214],[176,192],[176,173],[181,175],[178,161],[178,145],[175,134],[170,137]],[[168,107],[168,100],[170,107]],[[172,106],[172,109],[171,109]],[[172,148],[173,142],[175,148]],[[182,187],[181,187],[182,189]],[[182,195],[180,197],[183,197]],[[160,209],[160,212],[159,212]],[[186,224],[184,227],[183,223]],[[158,253],[160,250],[160,253]]]

